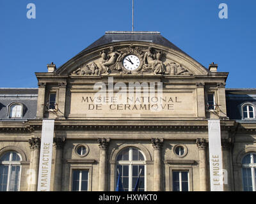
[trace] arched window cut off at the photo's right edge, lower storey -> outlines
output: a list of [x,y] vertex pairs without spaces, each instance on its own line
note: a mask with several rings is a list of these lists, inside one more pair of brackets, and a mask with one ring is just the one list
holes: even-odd
[[242,165],[244,191],[256,191],[256,154],[250,153],[244,156]]

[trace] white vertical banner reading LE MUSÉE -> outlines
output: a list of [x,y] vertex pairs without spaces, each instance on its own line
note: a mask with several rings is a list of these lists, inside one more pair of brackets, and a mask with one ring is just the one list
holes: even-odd
[[208,120],[211,191],[223,191],[220,120]]

